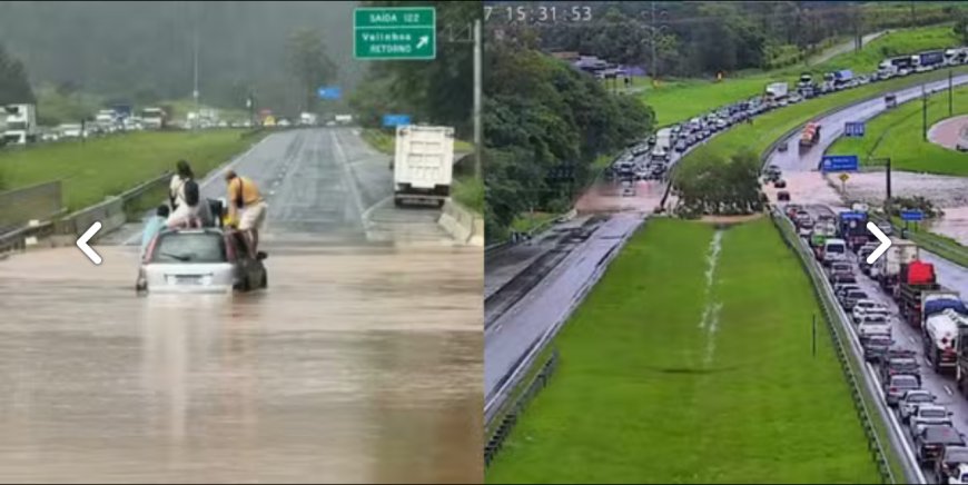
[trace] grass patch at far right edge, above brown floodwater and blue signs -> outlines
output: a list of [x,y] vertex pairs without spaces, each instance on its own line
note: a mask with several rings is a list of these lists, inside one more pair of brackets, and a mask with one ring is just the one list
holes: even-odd
[[[954,116],[968,113],[968,87],[956,87]],[[909,101],[867,122],[863,138],[840,138],[828,154],[858,155],[868,158],[890,157],[891,168],[955,176],[968,175],[968,154],[950,150],[923,138],[920,100]],[[948,91],[928,100],[928,128],[948,116]]]

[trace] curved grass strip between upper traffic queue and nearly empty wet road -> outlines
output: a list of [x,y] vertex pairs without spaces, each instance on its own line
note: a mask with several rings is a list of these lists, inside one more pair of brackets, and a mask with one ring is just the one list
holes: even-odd
[[[724,156],[739,152],[744,149],[762,154],[780,136],[791,129],[810,121],[812,118],[840,106],[851,105],[862,99],[877,96],[881,92],[892,91],[906,86],[913,86],[937,79],[946,79],[946,70],[939,70],[921,75],[912,75],[906,78],[891,79],[872,85],[860,86],[846,91],[834,92],[820,98],[804,100],[793,106],[779,108],[753,119],[752,125],[738,125],[729,131],[713,138],[703,150],[687,155],[680,164],[689,164],[690,160],[702,156],[705,150],[715,150]],[[968,67],[954,69],[955,75],[968,72]]]

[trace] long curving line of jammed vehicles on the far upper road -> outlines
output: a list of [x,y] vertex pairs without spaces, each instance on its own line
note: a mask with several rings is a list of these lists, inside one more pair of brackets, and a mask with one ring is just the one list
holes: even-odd
[[[645,140],[626,147],[604,172],[606,180],[618,180],[623,185],[622,196],[635,196],[636,180],[669,180],[669,171],[678,157],[689,149],[709,140],[715,133],[738,123],[752,123],[753,118],[763,112],[822,97],[846,89],[866,86],[912,73],[928,72],[944,67],[961,66],[968,62],[968,47],[918,52],[885,59],[878,69],[869,75],[855,76],[851,70],[826,72],[822,79],[814,79],[810,72],[802,72],[793,90],[788,82],[771,82],[763,95],[713,109],[689,121],[660,129]],[[890,102],[890,101],[888,101]],[[820,126],[808,125],[800,149],[808,150],[820,139]],[[786,150],[786,145],[779,147]],[[773,180],[781,181],[781,180]],[[780,185],[777,188],[782,188]],[[789,199],[789,194],[781,195]]]

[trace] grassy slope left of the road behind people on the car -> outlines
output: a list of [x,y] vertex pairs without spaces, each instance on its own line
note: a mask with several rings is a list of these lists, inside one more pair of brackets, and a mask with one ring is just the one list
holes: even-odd
[[142,131],[0,151],[8,189],[63,181],[63,202],[78,210],[174,170],[186,159],[201,176],[257,142],[243,130]]

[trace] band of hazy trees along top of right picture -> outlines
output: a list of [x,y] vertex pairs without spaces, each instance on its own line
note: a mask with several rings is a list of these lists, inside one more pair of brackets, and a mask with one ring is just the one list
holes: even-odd
[[784,67],[837,37],[950,21],[965,12],[965,6],[910,3],[909,14],[907,2],[601,2],[586,24],[542,27],[541,46],[654,68],[660,77],[713,76]]

